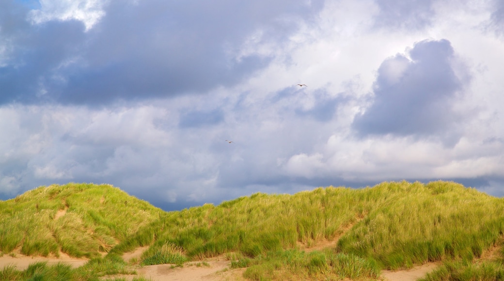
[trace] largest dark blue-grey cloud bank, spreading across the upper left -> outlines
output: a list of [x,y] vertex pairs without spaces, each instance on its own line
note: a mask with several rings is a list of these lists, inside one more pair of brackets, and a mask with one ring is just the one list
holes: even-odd
[[111,1],[86,32],[72,21],[32,25],[26,5],[2,3],[2,43],[16,51],[0,69],[0,102],[86,104],[237,83],[271,60],[241,53],[251,36],[254,44],[280,42],[323,1]]

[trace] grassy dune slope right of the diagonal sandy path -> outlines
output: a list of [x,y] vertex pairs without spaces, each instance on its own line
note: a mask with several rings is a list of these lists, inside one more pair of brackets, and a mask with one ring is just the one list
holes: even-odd
[[472,260],[504,233],[504,204],[447,182],[393,183],[396,190],[338,242],[337,250],[374,259],[387,269],[446,258]]

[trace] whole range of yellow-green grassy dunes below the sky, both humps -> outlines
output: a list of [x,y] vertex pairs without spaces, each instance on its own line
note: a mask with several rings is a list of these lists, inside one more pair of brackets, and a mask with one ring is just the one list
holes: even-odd
[[503,199],[454,182],[256,193],[169,213],[111,186],[68,184],[1,201],[0,222],[3,253],[108,252],[121,263],[148,246],[133,263],[224,255],[253,280],[379,279],[432,261],[442,265],[425,280],[504,279],[502,253],[482,258],[502,245]]

